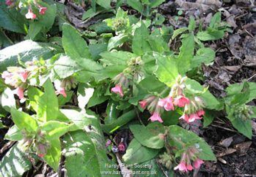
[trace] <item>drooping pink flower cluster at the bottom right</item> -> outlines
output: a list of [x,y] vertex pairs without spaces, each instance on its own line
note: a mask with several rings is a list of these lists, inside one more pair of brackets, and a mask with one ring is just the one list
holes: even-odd
[[[194,168],[199,169],[204,161],[197,157],[198,152],[199,150],[196,147],[188,148],[184,153],[182,153],[180,163],[176,167],[174,167],[174,169],[179,169],[180,171],[185,172],[191,171]],[[193,164],[191,164],[191,161],[193,161]]]

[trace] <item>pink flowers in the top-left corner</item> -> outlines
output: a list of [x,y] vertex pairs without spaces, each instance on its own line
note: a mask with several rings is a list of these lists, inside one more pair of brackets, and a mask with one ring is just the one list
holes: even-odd
[[[15,5],[15,0],[5,0],[5,4],[9,7]],[[36,1],[33,1],[33,7],[38,9],[40,15],[44,15],[46,13],[47,7],[39,5]],[[25,17],[27,19],[35,19],[36,14],[32,10],[32,5],[28,4],[28,12],[26,13]]]

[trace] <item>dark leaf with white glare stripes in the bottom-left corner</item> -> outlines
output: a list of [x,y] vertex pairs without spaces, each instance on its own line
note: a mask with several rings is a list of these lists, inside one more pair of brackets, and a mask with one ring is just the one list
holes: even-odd
[[22,176],[25,171],[31,168],[29,159],[18,146],[19,144],[13,145],[0,162],[0,176]]

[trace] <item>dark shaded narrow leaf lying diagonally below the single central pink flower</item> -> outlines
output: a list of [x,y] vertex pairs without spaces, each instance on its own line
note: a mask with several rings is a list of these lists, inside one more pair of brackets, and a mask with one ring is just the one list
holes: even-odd
[[129,112],[123,114],[119,118],[117,118],[111,124],[102,124],[102,130],[109,134],[110,132],[118,129],[119,127],[125,125],[126,123],[130,122],[137,116],[136,110],[132,109]]

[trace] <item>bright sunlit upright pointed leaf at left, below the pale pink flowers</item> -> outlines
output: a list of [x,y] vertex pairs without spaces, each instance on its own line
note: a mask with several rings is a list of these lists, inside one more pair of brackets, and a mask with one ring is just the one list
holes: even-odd
[[44,94],[38,99],[37,118],[45,122],[58,117],[58,99],[50,79],[44,83]]

